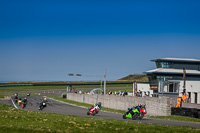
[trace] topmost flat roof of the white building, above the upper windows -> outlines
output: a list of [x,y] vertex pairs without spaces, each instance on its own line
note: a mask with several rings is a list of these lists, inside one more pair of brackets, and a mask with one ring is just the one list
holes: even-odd
[[189,58],[161,58],[161,59],[155,59],[155,60],[151,60],[151,61],[176,61],[176,62],[196,62],[196,63],[200,63],[200,60],[198,59],[189,59]]

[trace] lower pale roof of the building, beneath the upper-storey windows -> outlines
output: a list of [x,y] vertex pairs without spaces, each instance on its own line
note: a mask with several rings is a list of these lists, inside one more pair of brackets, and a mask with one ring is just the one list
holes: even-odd
[[[157,68],[145,72],[146,74],[157,73],[157,74],[183,74],[183,69],[173,68]],[[200,71],[197,70],[186,70],[186,74],[200,75]]]

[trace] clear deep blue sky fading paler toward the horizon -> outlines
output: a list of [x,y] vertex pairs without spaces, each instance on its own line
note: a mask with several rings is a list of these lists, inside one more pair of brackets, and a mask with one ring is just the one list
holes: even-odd
[[[200,59],[200,1],[0,1],[0,81],[107,80]],[[81,73],[82,77],[69,77]],[[94,75],[90,77],[88,75]]]

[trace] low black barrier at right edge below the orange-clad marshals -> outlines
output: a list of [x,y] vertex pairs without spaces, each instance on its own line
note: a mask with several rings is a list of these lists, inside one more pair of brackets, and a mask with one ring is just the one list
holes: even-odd
[[180,115],[200,119],[200,109],[197,108],[171,108],[171,115]]

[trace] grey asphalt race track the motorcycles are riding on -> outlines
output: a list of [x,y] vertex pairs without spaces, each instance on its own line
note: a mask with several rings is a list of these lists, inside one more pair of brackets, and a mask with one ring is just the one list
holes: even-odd
[[[21,97],[23,98],[23,97]],[[29,96],[27,97],[28,104],[24,110],[32,110],[39,111],[39,102],[43,100],[42,96]],[[141,120],[131,120],[131,119],[122,119],[122,114],[110,113],[100,111],[97,115],[91,116],[87,115],[87,108],[78,107],[75,105],[70,105],[64,102],[56,101],[53,99],[48,99],[48,105],[40,112],[49,112],[49,113],[57,113],[57,114],[66,114],[66,115],[76,115],[82,117],[93,117],[93,118],[102,118],[102,119],[115,119],[115,120],[123,120],[130,122],[142,122],[142,123],[151,123],[151,124],[161,124],[161,125],[173,125],[173,126],[189,126],[189,127],[198,127],[200,128],[200,124],[192,123],[192,122],[180,122],[180,121],[171,121],[171,120],[158,120],[158,119],[150,119],[143,118]],[[13,101],[13,102],[12,102]],[[13,105],[16,108],[22,109],[21,106],[18,106],[14,103],[14,97],[11,97],[11,100],[0,100],[0,103]]]

